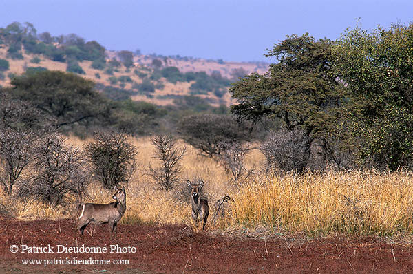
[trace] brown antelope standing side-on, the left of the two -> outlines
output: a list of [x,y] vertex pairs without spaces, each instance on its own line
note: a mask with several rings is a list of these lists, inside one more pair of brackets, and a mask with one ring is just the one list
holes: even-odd
[[109,224],[110,238],[112,238],[112,233],[117,231],[117,224],[122,218],[126,211],[126,193],[125,187],[118,189],[115,187],[116,193],[114,193],[114,200],[116,202],[111,202],[110,204],[83,204],[82,213],[79,216],[77,229],[83,235],[87,224],[89,222],[94,222],[96,224]]

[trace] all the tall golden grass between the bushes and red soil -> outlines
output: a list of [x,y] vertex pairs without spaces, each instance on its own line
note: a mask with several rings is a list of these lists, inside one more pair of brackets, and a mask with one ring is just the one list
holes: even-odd
[[[83,147],[86,141],[67,140],[70,145]],[[187,146],[182,159],[182,183],[176,190],[165,192],[147,176],[149,164],[158,165],[152,158],[150,138],[131,139],[138,147],[138,169],[127,191],[127,211],[124,224],[149,222],[160,224],[191,224],[189,200],[182,198],[189,191],[186,180],[202,178],[204,196],[211,208],[208,227],[214,229],[255,229],[266,226],[279,233],[328,235],[345,233],[358,235],[412,235],[413,233],[413,173],[398,171],[326,171],[286,176],[257,172],[242,182],[231,185],[231,176],[210,158]],[[184,143],[180,143],[184,145]],[[247,168],[260,166],[263,158],[252,151],[246,159]],[[215,202],[228,194],[229,213],[215,218]],[[87,202],[112,202],[108,193],[97,183],[89,188]],[[20,220],[76,218],[74,211],[52,209],[41,202],[20,202],[1,196],[3,204],[12,207]]]

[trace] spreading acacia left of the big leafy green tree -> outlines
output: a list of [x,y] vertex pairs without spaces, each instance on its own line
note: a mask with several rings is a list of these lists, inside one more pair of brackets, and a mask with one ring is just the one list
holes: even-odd
[[332,131],[343,98],[341,83],[329,74],[331,48],[327,39],[287,36],[268,50],[266,56],[277,59],[268,72],[254,72],[233,83],[229,92],[237,104],[231,112],[240,120],[268,117],[281,120],[288,131],[299,129],[308,140],[304,151],[308,162],[313,141]]

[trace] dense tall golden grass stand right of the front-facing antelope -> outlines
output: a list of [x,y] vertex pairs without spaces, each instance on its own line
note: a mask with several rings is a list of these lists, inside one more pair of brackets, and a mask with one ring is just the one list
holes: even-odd
[[232,193],[232,225],[308,235],[413,232],[412,173],[348,171],[255,178]]

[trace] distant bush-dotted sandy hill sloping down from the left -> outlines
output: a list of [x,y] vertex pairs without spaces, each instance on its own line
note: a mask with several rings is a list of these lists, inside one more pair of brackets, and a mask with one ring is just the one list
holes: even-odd
[[76,34],[37,35],[27,23],[0,28],[0,59],[9,63],[8,70],[0,71],[1,86],[10,85],[13,76],[28,70],[72,71],[95,81],[96,89],[114,100],[131,98],[156,105],[173,105],[184,96],[202,98],[213,106],[230,105],[227,91],[233,81],[268,70],[264,62],[109,51],[96,41],[85,43]]

